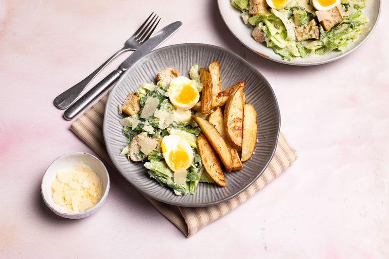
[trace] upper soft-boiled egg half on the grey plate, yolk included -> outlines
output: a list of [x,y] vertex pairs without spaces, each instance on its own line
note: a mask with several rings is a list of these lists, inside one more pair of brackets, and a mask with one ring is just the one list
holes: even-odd
[[185,76],[172,80],[167,91],[170,102],[181,110],[189,110],[197,104],[200,94],[195,83]]

